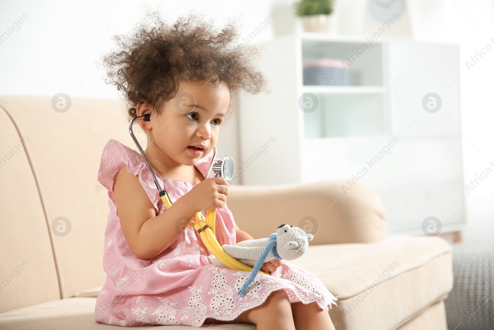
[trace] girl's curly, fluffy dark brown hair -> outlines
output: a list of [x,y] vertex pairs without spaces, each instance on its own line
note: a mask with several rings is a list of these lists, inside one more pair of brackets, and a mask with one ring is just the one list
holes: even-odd
[[170,25],[161,20],[158,10],[148,10],[147,22],[137,23],[134,33],[113,36],[117,50],[103,57],[108,68],[105,83],[123,90],[128,120],[144,101],[161,114],[163,104],[176,96],[181,80],[225,83],[231,99],[226,117],[241,90],[267,91],[267,81],[253,63],[260,49],[238,43],[235,22],[230,20],[217,32],[213,22],[202,16],[191,12]]

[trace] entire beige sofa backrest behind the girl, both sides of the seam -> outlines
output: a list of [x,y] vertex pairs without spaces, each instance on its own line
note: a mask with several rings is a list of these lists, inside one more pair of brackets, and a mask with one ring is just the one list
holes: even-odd
[[0,312],[102,285],[109,208],[96,178],[109,139],[133,144],[122,102],[72,98],[58,112],[49,96],[1,95],[0,116]]

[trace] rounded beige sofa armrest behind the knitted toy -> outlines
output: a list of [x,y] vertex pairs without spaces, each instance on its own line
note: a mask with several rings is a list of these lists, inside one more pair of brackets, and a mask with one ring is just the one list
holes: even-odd
[[269,237],[289,224],[313,234],[312,244],[371,243],[386,233],[386,216],[377,194],[359,182],[345,181],[271,186],[229,186],[228,208],[239,229],[253,238]]

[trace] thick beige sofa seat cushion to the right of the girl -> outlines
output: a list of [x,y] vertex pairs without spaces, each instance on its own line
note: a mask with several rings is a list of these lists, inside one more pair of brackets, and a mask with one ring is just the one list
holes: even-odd
[[377,243],[312,245],[289,262],[338,298],[329,310],[336,329],[394,330],[451,291],[451,250],[439,237],[388,236]]

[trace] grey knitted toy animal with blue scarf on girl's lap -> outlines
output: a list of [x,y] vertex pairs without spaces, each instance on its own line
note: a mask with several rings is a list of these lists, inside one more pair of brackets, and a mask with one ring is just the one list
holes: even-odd
[[[245,296],[245,290],[254,280],[264,262],[274,259],[294,260],[301,257],[309,246],[308,241],[312,240],[313,237],[312,234],[305,233],[301,228],[283,224],[269,238],[247,239],[235,245],[222,245],[226,253],[241,263],[253,267],[249,278],[237,294],[242,297]],[[213,265],[224,266],[213,255],[208,256],[207,259]]]

